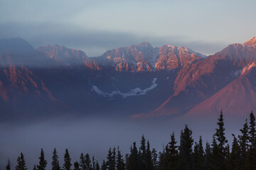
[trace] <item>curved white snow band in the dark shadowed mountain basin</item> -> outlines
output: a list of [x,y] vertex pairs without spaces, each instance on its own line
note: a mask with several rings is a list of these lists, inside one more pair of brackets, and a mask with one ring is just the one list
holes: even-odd
[[97,86],[94,86],[94,85],[92,85],[92,91],[95,91],[96,94],[103,96],[105,98],[113,98],[114,96],[121,96],[122,98],[127,98],[130,96],[142,96],[142,95],[146,95],[149,91],[156,88],[157,86],[156,80],[157,78],[154,78],[152,81],[152,85],[146,89],[140,89],[139,87],[137,87],[135,89],[131,89],[127,93],[122,93],[118,89],[116,91],[112,91],[111,93],[107,93],[107,92],[101,91],[99,88],[97,88]]

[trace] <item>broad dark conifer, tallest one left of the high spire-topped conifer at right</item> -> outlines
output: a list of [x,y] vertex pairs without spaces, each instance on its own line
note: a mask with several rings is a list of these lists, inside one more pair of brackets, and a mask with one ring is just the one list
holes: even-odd
[[188,128],[188,125],[185,125],[184,130],[181,130],[180,139],[180,147],[178,147],[180,156],[180,169],[193,169],[193,162],[191,158],[193,138],[192,130]]

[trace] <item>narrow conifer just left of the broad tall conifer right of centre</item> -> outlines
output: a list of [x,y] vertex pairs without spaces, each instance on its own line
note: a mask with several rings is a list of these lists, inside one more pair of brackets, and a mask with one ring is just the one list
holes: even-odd
[[176,146],[176,140],[174,132],[171,134],[171,142],[169,142],[169,159],[168,159],[168,168],[170,170],[178,169],[178,146]]

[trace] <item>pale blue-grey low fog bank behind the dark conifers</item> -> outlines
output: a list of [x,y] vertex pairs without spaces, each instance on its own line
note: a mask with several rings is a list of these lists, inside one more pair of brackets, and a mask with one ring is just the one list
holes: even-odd
[[[0,169],[5,169],[7,159],[11,160],[11,169],[16,166],[16,159],[23,152],[28,169],[38,164],[41,148],[44,149],[50,169],[53,148],[56,147],[60,164],[68,148],[72,162],[78,161],[81,153],[88,153],[100,163],[105,159],[110,147],[119,145],[122,154],[128,154],[132,142],[140,145],[144,134],[149,140],[151,148],[162,151],[163,145],[170,141],[171,132],[176,134],[179,142],[181,129],[185,124],[193,130],[193,138],[198,141],[200,135],[203,142],[211,142],[215,132],[216,120],[209,122],[178,120],[171,118],[151,120],[119,120],[114,118],[55,118],[29,123],[1,123],[0,124]],[[225,124],[226,136],[232,142],[231,132],[238,135],[242,124]],[[228,125],[227,125],[228,124]]]

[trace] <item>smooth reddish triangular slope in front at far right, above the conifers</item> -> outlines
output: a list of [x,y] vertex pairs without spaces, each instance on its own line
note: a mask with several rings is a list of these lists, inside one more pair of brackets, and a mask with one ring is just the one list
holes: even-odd
[[[245,71],[249,69],[248,71]],[[255,62],[242,69],[241,75],[206,101],[192,108],[186,116],[213,117],[220,110],[227,115],[242,116],[256,109]],[[207,114],[206,114],[207,113]]]

